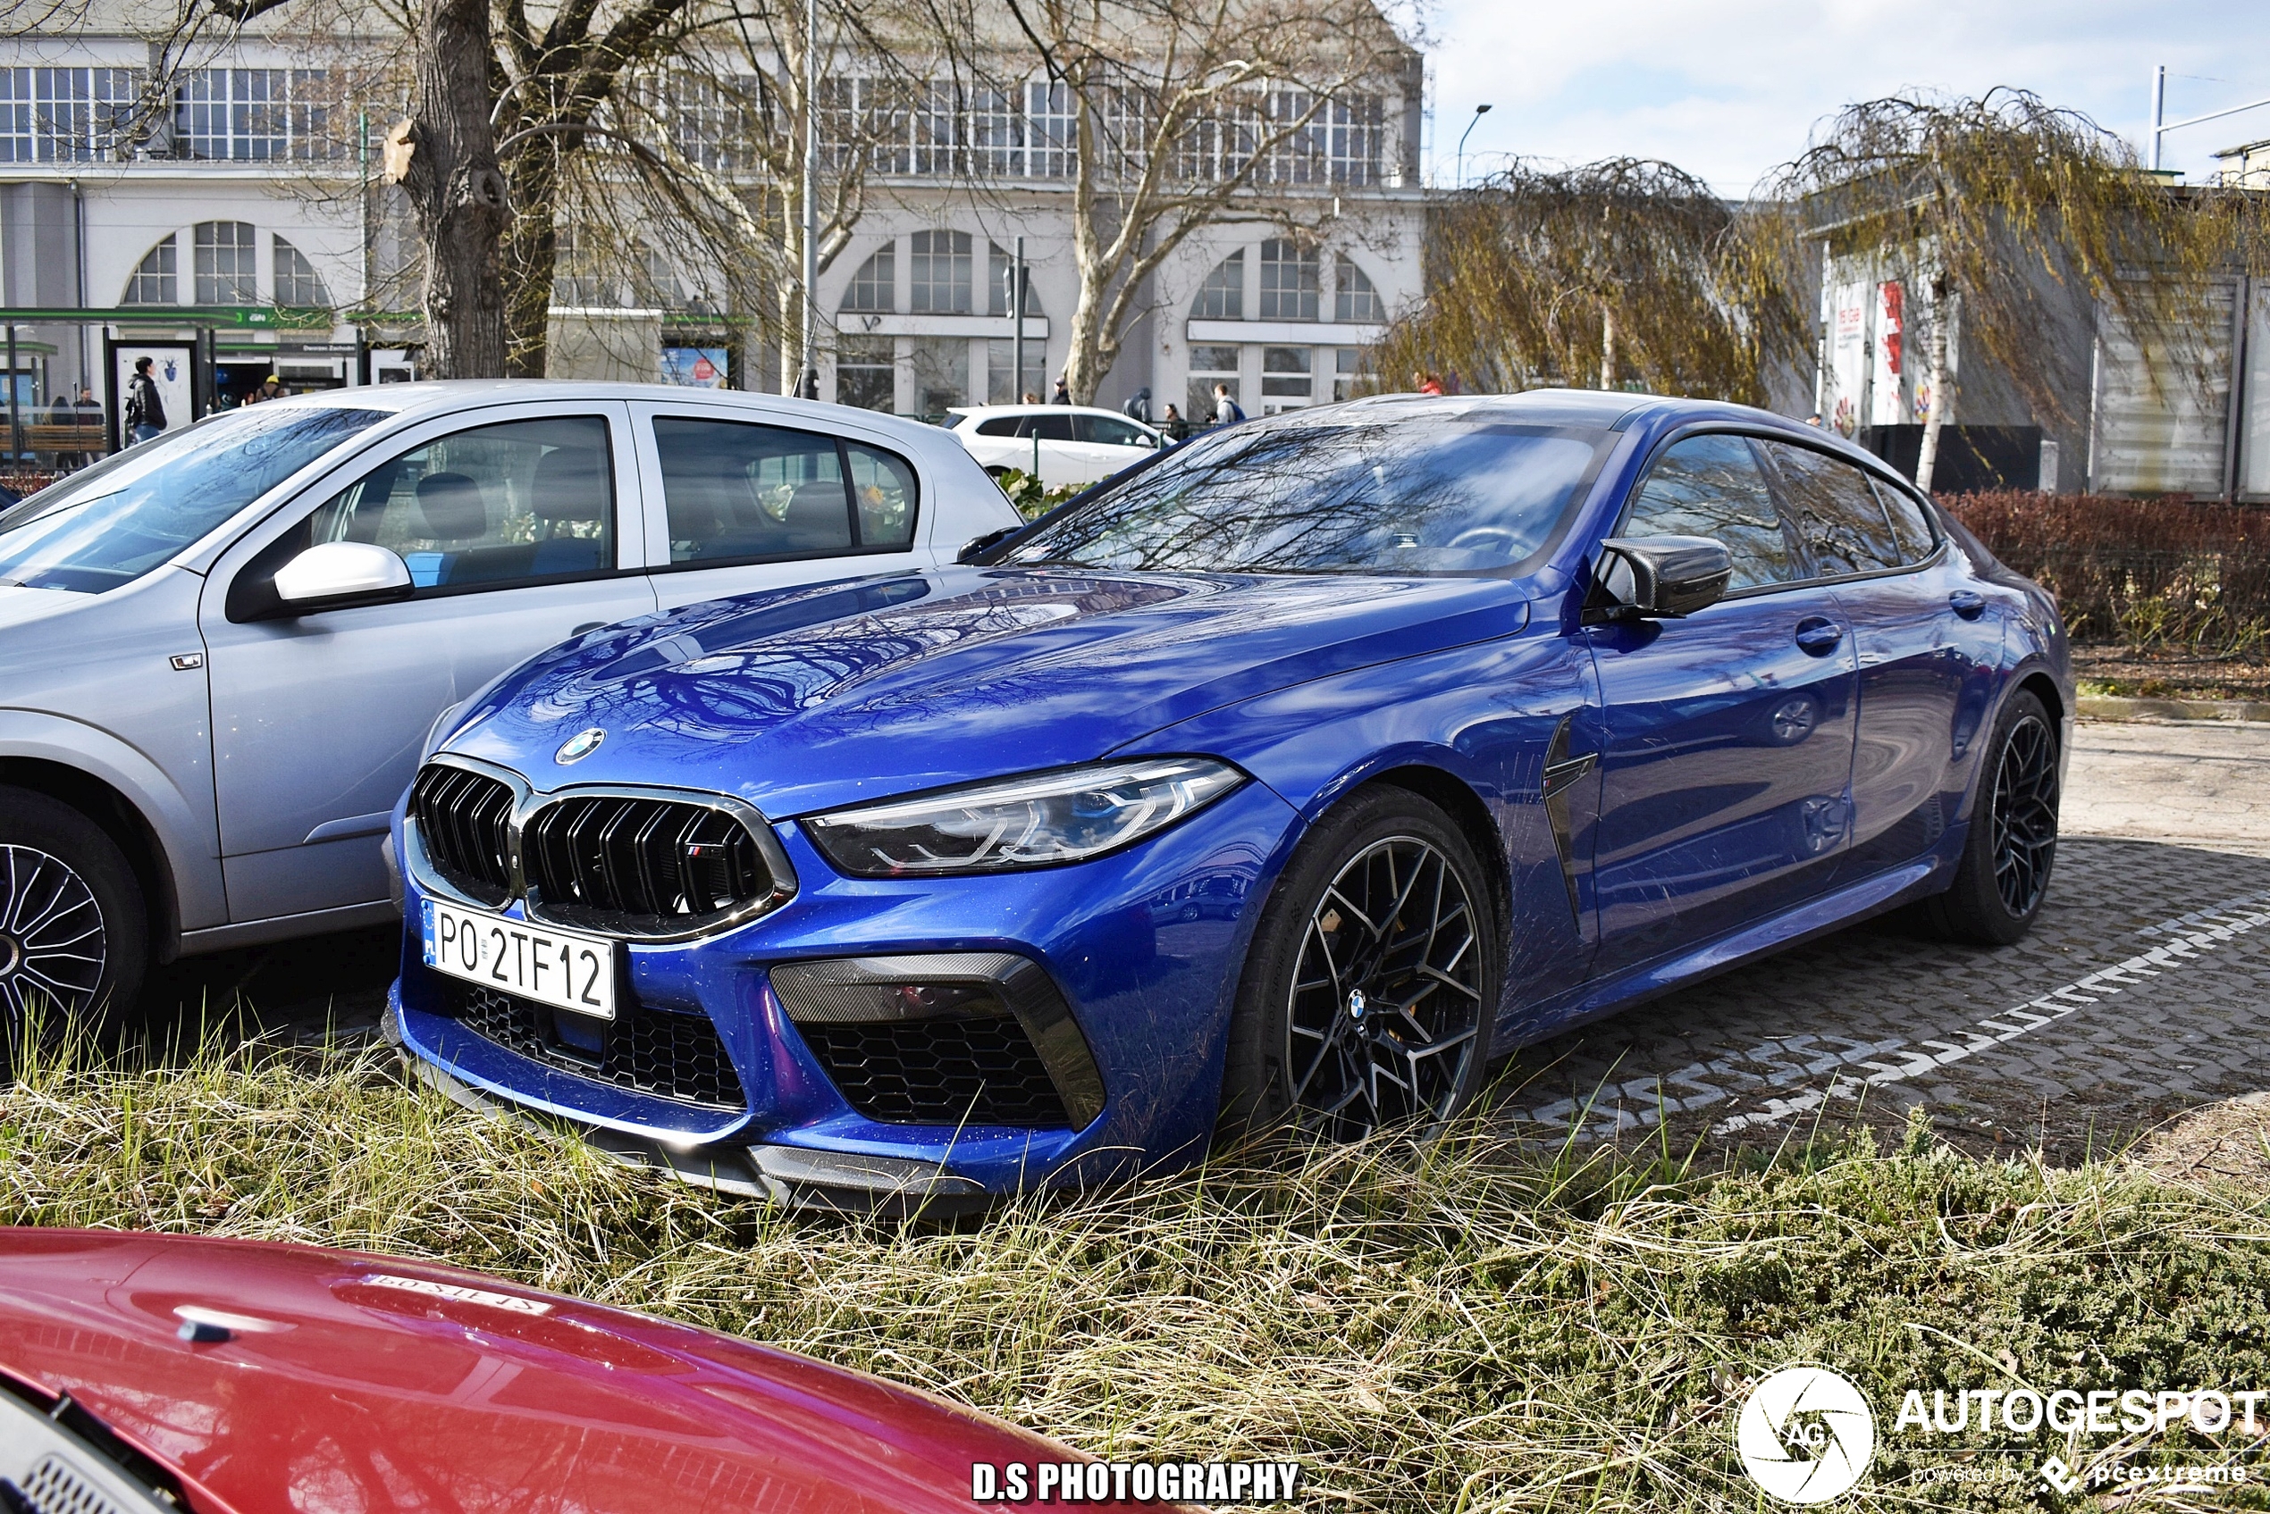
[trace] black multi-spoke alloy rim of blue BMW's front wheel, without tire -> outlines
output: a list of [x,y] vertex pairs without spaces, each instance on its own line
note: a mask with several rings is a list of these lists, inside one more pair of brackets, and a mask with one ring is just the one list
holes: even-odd
[[1337,1142],[1444,1119],[1482,1017],[1476,906],[1414,835],[1360,851],[1310,910],[1287,1006],[1294,1117]]

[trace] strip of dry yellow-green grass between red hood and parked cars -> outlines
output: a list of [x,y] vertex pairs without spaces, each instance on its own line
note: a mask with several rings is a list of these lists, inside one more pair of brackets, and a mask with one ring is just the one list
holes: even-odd
[[[1117,1455],[1298,1457],[1342,1509],[1723,1509],[1730,1407],[1830,1362],[2270,1385],[2270,1208],[1920,1126],[1718,1171],[1453,1139],[1280,1153],[983,1221],[720,1201],[406,1087],[370,1051],[61,1058],[0,1094],[0,1219],[424,1255],[888,1373]],[[1889,1430],[1889,1419],[1886,1425]],[[2025,1503],[1984,1484],[1914,1507]],[[2066,1450],[2057,1444],[2059,1450]]]

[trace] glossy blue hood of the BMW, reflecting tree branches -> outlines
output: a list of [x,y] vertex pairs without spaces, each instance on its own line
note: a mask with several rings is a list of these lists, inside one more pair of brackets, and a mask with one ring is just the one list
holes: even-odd
[[[772,817],[1085,763],[1332,672],[1512,636],[1503,579],[1112,574],[858,579],[597,631],[497,683],[447,751],[536,788],[670,783]],[[556,751],[588,729],[574,765]]]

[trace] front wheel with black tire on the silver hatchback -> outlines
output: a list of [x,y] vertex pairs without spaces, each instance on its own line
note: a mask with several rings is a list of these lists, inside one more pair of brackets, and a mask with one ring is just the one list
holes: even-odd
[[102,826],[68,804],[0,788],[0,1017],[118,1024],[141,994],[150,926],[141,883]]

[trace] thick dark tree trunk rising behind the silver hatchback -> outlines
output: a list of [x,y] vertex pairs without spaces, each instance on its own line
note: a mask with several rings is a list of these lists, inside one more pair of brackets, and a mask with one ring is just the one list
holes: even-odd
[[488,0],[427,0],[418,36],[409,191],[424,243],[424,372],[504,377],[499,234],[508,218],[488,125]]

